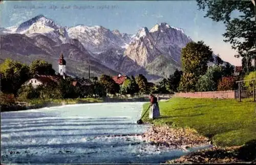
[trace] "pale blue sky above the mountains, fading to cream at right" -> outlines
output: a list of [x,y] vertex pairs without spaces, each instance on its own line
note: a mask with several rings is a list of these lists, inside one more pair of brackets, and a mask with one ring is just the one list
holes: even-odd
[[[61,9],[63,6],[70,8]],[[141,27],[151,29],[156,23],[166,22],[183,29],[194,41],[203,40],[223,60],[241,65],[241,60],[234,58],[236,52],[231,50],[231,45],[223,41],[223,23],[204,18],[196,1],[4,1],[0,11],[0,27],[19,25],[39,14],[61,26],[101,25],[130,34]]]

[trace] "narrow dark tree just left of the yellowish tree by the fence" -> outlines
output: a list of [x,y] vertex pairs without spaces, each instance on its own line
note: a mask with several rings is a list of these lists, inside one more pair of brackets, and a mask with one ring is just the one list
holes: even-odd
[[178,91],[177,88],[179,87],[180,79],[182,76],[182,71],[179,71],[178,69],[175,70],[173,75],[170,75],[167,79],[167,86],[166,89],[169,92]]

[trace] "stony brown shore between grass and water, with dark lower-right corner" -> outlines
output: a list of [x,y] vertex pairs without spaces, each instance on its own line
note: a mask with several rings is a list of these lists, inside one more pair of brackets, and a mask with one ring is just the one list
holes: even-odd
[[[210,140],[189,128],[169,128],[152,126],[141,138],[156,146],[172,149],[188,149],[210,145]],[[243,146],[212,147],[192,152],[166,163],[256,163],[256,139]]]

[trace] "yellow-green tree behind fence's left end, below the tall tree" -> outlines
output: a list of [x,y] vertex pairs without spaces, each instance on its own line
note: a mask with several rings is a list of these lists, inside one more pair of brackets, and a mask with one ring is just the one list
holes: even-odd
[[198,78],[192,73],[183,72],[178,90],[181,92],[196,91]]

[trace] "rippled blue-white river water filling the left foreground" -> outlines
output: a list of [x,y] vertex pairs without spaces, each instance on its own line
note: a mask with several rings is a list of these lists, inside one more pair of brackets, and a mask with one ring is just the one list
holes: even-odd
[[3,163],[160,163],[197,148],[159,149],[135,136],[144,103],[65,105],[1,113]]

